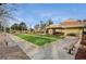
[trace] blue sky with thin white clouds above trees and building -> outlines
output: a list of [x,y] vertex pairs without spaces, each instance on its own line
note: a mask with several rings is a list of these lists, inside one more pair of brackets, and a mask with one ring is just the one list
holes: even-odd
[[[86,4],[84,3],[19,3],[10,8],[16,8],[13,12],[14,17],[20,22],[25,22],[28,27],[48,20],[52,20],[54,24],[67,18],[86,20]],[[11,25],[20,22],[10,21]]]

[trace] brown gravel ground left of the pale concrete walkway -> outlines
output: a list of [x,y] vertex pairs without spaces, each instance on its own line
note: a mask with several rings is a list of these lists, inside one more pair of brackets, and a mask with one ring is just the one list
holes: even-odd
[[4,41],[5,38],[7,37],[0,34],[0,60],[29,60],[22,49],[9,37],[7,38],[7,46]]

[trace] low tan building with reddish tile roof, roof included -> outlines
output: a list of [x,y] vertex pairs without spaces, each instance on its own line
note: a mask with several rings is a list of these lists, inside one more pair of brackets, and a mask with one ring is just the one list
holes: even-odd
[[77,22],[75,20],[66,20],[60,24],[54,24],[47,26],[47,34],[50,35],[81,35],[83,31],[83,27],[86,25],[86,22]]

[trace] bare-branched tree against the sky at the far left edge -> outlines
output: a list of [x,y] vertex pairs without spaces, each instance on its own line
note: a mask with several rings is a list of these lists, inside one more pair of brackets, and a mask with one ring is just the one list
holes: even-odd
[[7,31],[7,27],[9,27],[9,18],[15,20],[12,15],[12,11],[15,11],[15,9],[9,8],[9,5],[12,7],[13,4],[0,3],[0,23],[4,33]]

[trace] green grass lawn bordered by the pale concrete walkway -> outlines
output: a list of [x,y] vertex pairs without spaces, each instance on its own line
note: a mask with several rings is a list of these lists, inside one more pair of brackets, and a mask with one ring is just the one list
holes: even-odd
[[44,46],[46,43],[50,43],[52,41],[60,39],[60,37],[58,37],[58,36],[49,36],[49,35],[24,35],[24,34],[20,34],[16,36],[22,38],[22,39],[25,39],[26,41],[35,43],[37,46]]

